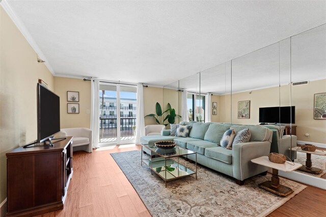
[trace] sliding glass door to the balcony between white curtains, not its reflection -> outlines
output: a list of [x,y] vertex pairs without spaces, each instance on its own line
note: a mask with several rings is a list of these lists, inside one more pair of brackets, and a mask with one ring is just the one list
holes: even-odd
[[100,84],[99,146],[134,142],[136,93],[132,86]]

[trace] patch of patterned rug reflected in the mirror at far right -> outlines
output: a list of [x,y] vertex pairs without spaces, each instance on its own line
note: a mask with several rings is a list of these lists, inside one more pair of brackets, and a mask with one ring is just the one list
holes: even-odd
[[[307,154],[304,152],[300,152],[297,151],[296,152],[296,159],[294,160],[294,162],[297,162],[299,164],[302,165],[306,165],[306,159],[307,159]],[[319,165],[321,162],[326,162],[326,156],[325,155],[316,155],[316,154],[312,154],[311,155],[311,162],[312,162],[312,167],[315,168],[320,168]],[[313,173],[308,173],[305,171],[301,171],[301,170],[296,170],[296,172],[300,172],[300,173],[304,173],[310,176],[315,176],[315,177],[321,177],[324,174],[326,174],[326,170],[323,170],[320,174],[313,174]]]

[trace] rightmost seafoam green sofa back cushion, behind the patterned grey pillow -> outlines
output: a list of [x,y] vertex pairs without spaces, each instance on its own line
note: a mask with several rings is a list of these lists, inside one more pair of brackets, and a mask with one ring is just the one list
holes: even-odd
[[232,125],[230,127],[231,129],[234,129],[235,132],[239,132],[242,129],[250,129],[251,132],[251,138],[250,142],[263,142],[267,141],[269,139],[269,129],[267,127],[263,126],[251,126],[251,125]]

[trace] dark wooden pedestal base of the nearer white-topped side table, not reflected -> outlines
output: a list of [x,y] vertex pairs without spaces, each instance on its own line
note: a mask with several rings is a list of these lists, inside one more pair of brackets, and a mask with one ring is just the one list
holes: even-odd
[[293,192],[293,190],[287,186],[280,184],[280,178],[278,176],[279,170],[273,168],[273,174],[270,181],[265,181],[259,184],[259,187],[265,189],[268,192],[274,193],[281,197],[286,197]]

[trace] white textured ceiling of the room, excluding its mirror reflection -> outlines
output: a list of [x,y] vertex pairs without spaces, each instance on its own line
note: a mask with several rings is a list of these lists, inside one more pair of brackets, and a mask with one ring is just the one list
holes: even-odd
[[324,1],[7,1],[56,75],[167,85],[326,23]]

